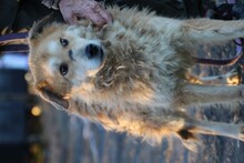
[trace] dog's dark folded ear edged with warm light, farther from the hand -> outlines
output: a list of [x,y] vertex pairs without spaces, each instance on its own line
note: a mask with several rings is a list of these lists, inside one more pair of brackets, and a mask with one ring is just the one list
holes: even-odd
[[42,84],[45,86],[39,86],[38,91],[42,99],[54,105],[57,109],[65,109],[68,110],[70,106],[70,102],[63,95],[53,92],[47,84]]

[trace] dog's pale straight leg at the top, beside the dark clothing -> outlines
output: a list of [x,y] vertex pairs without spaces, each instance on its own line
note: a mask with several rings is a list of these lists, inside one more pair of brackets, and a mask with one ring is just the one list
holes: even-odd
[[223,42],[244,37],[243,20],[191,19],[185,20],[182,28],[193,44]]

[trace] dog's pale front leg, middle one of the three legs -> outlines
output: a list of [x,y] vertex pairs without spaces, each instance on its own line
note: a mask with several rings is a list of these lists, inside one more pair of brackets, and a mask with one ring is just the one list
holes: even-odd
[[183,106],[244,100],[244,85],[186,84],[179,96]]

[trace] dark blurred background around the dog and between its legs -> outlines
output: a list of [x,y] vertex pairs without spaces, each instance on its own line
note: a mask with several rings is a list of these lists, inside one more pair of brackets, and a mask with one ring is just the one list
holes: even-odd
[[[106,0],[109,4],[149,7],[157,14],[172,18],[209,17],[242,19],[243,0]],[[232,4],[233,3],[233,4]],[[0,35],[27,32],[32,23],[52,12],[40,0],[1,0]],[[57,16],[60,14],[55,11]],[[16,44],[17,47],[12,45]],[[21,47],[23,45],[23,47]],[[223,136],[202,135],[199,153],[186,150],[176,139],[164,139],[151,146],[125,133],[106,132],[101,125],[59,111],[33,94],[28,84],[28,49],[26,39],[0,40],[0,163],[242,163],[244,143]],[[20,48],[20,49],[18,49]],[[201,45],[203,58],[227,59],[242,47]],[[242,82],[243,58],[231,67],[197,65],[199,77],[237,75],[223,84]],[[218,83],[220,84],[220,83]],[[205,108],[192,108],[190,114],[203,120],[244,123],[244,105],[235,102]]]

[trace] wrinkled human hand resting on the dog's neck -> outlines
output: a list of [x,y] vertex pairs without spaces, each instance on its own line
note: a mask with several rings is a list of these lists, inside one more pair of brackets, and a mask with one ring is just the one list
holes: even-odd
[[112,20],[111,13],[94,0],[60,0],[59,7],[68,23],[75,23],[79,18],[87,18],[96,27],[102,27]]

